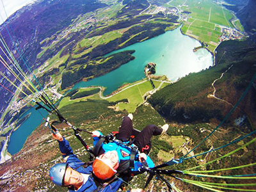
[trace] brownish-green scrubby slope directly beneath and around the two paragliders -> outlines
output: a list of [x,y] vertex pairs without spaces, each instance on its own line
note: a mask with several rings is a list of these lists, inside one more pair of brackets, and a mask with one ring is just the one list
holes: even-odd
[[[227,45],[223,47],[227,48]],[[225,59],[225,62],[227,61],[228,58]],[[211,70],[212,69],[209,69],[208,71],[211,72]],[[193,74],[193,77],[196,76],[202,76],[201,72],[198,74]],[[184,79],[186,80],[186,78],[187,77]],[[182,79],[180,81],[182,81]],[[225,81],[228,83],[230,79],[227,78]],[[166,89],[168,88],[169,86],[166,86]],[[163,92],[164,90],[165,89],[163,89]],[[178,92],[178,90],[180,89],[177,88],[177,90],[173,90],[173,92]],[[161,92],[162,91],[160,90],[157,93]],[[150,100],[152,101],[154,97],[155,95],[153,95]],[[215,104],[217,104],[217,102],[215,102]],[[103,132],[103,134],[107,134],[108,132],[116,131],[122,121],[122,116],[127,115],[127,111],[114,111],[112,109],[113,105],[115,105],[115,102],[95,99],[92,100],[89,96],[87,99],[85,98],[84,101],[63,106],[60,108],[60,111],[61,114],[68,119],[68,121],[80,129],[86,129],[88,131],[100,130]],[[164,118],[159,115],[159,113],[157,113],[157,111],[154,110],[148,103],[145,103],[137,108],[133,115],[134,128],[139,130],[141,130],[147,124],[165,124]],[[54,120],[54,118],[56,117],[52,115],[51,120]],[[172,159],[172,157],[177,158],[183,156],[186,154],[186,152],[188,152],[188,150],[195,147],[195,145],[198,144],[202,138],[207,136],[209,131],[214,129],[217,122],[217,120],[212,120],[211,124],[205,124],[203,119],[198,119],[197,124],[177,124],[175,121],[168,122],[170,129],[168,130],[167,134],[153,137],[153,148],[152,152],[150,153],[150,157],[152,157],[156,164],[161,164],[169,161]],[[225,145],[234,138],[237,138],[237,136],[250,132],[248,127],[250,128],[248,124],[243,124],[240,127],[229,126],[228,124],[221,126],[219,131],[214,133],[214,136],[209,139],[209,142],[201,145],[196,152],[209,150],[209,148],[212,146],[217,148],[221,145]],[[81,143],[79,143],[79,141],[74,137],[72,129],[67,127],[67,125],[59,125],[58,129],[61,134],[63,134],[63,136],[70,141],[70,145],[74,149],[75,154],[77,154],[82,161],[88,161],[88,154],[86,154]],[[241,130],[243,130],[243,132],[241,132]],[[81,136],[86,143],[92,145],[92,138],[90,138],[89,134],[82,132]],[[195,165],[201,164],[202,162],[211,161],[212,159],[220,156],[220,154],[226,154],[228,151],[240,147],[246,141],[248,141],[248,139],[244,140],[242,143],[237,143],[236,145],[226,147],[219,152],[212,152],[211,156],[202,156],[196,159],[191,159],[179,164],[178,166],[174,166],[173,168],[177,170],[185,170],[186,168],[191,168]],[[212,170],[226,168],[230,167],[231,164],[232,166],[239,166],[244,164],[244,161],[246,161],[246,163],[253,163],[255,162],[255,156],[253,154],[255,154],[255,145],[240,151],[236,154],[236,156],[228,157],[227,159],[221,161],[221,163],[209,165],[208,169]],[[22,148],[19,153],[12,157],[12,161],[7,161],[6,163],[0,165],[1,191],[42,191],[43,189],[47,191],[65,191],[63,188],[54,186],[48,175],[49,168],[53,164],[61,162],[60,157],[58,145],[56,141],[52,140],[49,129],[42,129],[42,127],[38,127],[33,134],[29,136],[24,148]],[[253,173],[253,170],[250,168],[243,169],[242,171],[234,170],[232,172],[228,172],[228,174],[250,173]],[[140,180],[140,182],[138,182],[138,180]],[[175,186],[182,189],[182,191],[204,191],[196,186],[184,184],[183,182],[179,182],[178,180],[172,178],[168,178],[168,180],[170,182],[175,182]],[[208,181],[212,182],[212,180]],[[216,180],[216,182],[220,181]],[[228,182],[228,180],[223,182]],[[159,180],[157,183],[158,185],[154,187],[154,191],[159,191],[159,188],[164,186]],[[140,175],[138,179],[134,179],[132,184],[138,184],[139,187],[143,187],[143,184],[145,184],[145,175]]]

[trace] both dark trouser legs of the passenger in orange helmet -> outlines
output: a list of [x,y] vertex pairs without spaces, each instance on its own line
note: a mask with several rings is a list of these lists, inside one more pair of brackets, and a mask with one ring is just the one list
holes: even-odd
[[[118,140],[128,140],[132,136],[132,120],[129,116],[125,116],[122,121],[122,125],[116,136]],[[134,145],[137,145],[140,152],[148,154],[151,149],[151,137],[161,134],[163,129],[156,125],[147,125],[135,138]]]

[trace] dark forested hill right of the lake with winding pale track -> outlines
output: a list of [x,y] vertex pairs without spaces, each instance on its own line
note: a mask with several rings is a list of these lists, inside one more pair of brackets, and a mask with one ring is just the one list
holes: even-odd
[[[170,121],[211,122],[222,120],[241,97],[255,72],[256,45],[245,42],[223,42],[217,49],[216,65],[198,74],[189,74],[177,83],[166,86],[154,94],[150,103]],[[223,74],[224,73],[224,74]],[[214,80],[217,80],[214,83]],[[228,79],[232,79],[228,80]],[[215,96],[212,97],[214,88]],[[179,90],[178,92],[176,90]],[[246,115],[252,127],[256,125],[255,88],[251,88],[246,98],[228,120],[230,124],[239,116]]]

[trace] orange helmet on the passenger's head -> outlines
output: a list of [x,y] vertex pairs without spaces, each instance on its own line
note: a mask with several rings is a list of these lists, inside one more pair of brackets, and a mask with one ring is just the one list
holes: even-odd
[[106,180],[113,175],[115,175],[116,170],[114,170],[108,163],[104,162],[104,160],[96,157],[92,164],[92,171],[93,174],[98,177],[99,179]]

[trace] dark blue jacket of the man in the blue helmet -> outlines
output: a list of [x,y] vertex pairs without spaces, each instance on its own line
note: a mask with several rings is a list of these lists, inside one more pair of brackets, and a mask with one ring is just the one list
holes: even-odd
[[[68,159],[66,162],[68,166],[70,166],[71,168],[73,168],[79,173],[90,174],[90,177],[88,178],[88,180],[85,182],[85,184],[83,184],[83,186],[81,186],[81,188],[79,188],[79,190],[77,190],[77,192],[82,192],[82,191],[91,192],[97,189],[97,186],[92,177],[92,166],[88,166],[84,168],[83,166],[84,163],[81,160],[79,160],[75,154],[73,154],[73,150],[70,147],[68,141],[65,140],[65,138],[63,138],[63,141],[58,141],[58,143],[59,143],[60,151],[63,157],[68,156]],[[100,192],[107,192],[107,191],[115,192],[118,190],[120,184],[122,184],[122,180],[120,179],[115,180],[114,182],[111,182],[110,184],[108,184],[108,186],[106,186],[105,188],[101,189]],[[74,189],[72,188],[68,188],[68,190],[74,191]]]

